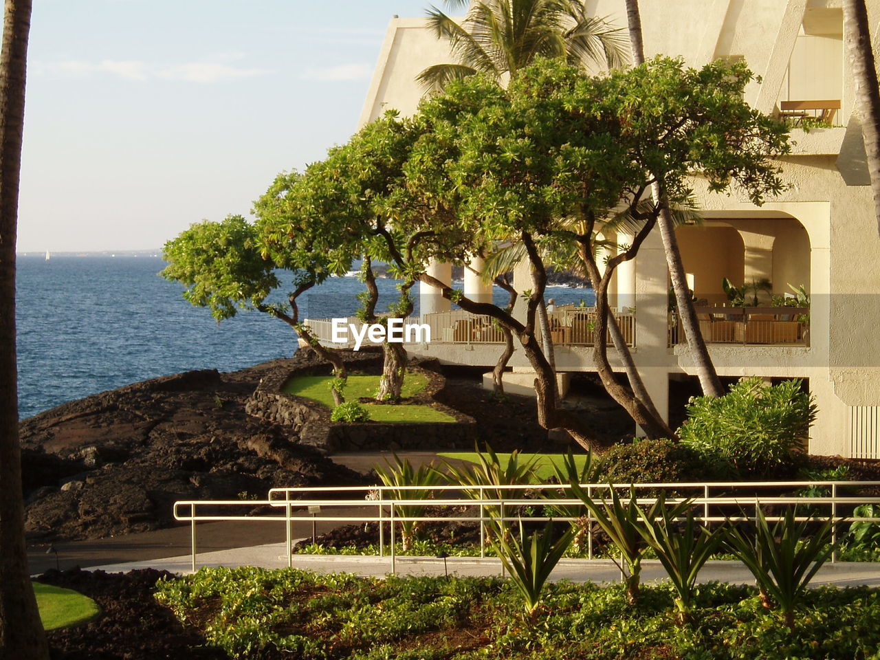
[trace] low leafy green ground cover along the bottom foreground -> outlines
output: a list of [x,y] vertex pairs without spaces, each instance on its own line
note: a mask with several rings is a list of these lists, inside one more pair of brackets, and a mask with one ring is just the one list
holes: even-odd
[[700,585],[678,627],[668,584],[551,583],[534,619],[496,577],[372,578],[297,569],[202,568],[158,583],[156,598],[231,657],[336,660],[781,660],[876,658],[880,594],[809,590],[794,632],[751,586]]

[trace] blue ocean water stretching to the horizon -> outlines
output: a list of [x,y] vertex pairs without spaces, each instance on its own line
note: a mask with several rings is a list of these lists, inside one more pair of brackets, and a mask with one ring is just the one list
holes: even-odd
[[[164,267],[156,256],[18,257],[21,418],[147,378],[244,369],[296,351],[290,326],[266,314],[240,312],[216,323],[208,309],[181,297],[180,284],[158,276]],[[398,282],[377,283],[381,311],[394,300]],[[362,290],[354,276],[334,277],[309,292],[302,312],[312,318],[348,316]],[[283,299],[286,291],[277,297]],[[547,297],[557,304],[590,303],[592,290],[551,287]],[[506,304],[505,298],[496,288],[495,302]]]

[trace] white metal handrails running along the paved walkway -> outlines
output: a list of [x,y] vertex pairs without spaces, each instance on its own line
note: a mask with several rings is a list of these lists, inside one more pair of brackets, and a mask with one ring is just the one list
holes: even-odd
[[[815,508],[817,506],[824,507],[827,512],[817,514],[820,519],[831,518],[832,522],[840,523],[841,521],[870,521],[880,522],[880,517],[853,517],[850,510],[860,504],[880,504],[880,497],[868,497],[862,495],[838,495],[840,488],[855,487],[877,487],[880,481],[716,481],[711,483],[703,482],[685,482],[685,483],[640,483],[640,484],[582,484],[582,488],[588,495],[596,499],[602,499],[607,496],[609,489],[622,490],[629,493],[630,489],[634,492],[640,490],[662,490],[671,491],[676,495],[669,497],[667,502],[681,502],[683,499],[691,499],[695,508],[702,508],[701,516],[697,517],[702,522],[724,522],[726,520],[748,520],[753,519],[744,515],[745,509],[757,510],[760,506],[769,504],[802,504]],[[749,492],[748,495],[736,495],[736,491],[759,491],[761,489],[796,489],[818,487],[830,490],[829,496],[810,497],[804,495],[755,495]],[[542,490],[554,490],[557,494],[560,491],[570,490],[568,484],[520,484],[520,485],[487,485],[487,486],[469,486],[469,485],[451,485],[451,486],[349,486],[349,487],[327,487],[327,488],[272,488],[269,490],[267,500],[181,500],[174,502],[174,518],[180,521],[187,521],[191,528],[191,554],[192,567],[195,570],[196,565],[196,532],[195,525],[197,522],[209,521],[229,521],[229,520],[247,520],[254,521],[283,521],[285,523],[285,539],[287,547],[288,566],[293,565],[293,523],[309,522],[337,522],[337,523],[378,523],[379,531],[379,555],[385,556],[385,523],[390,524],[390,560],[391,572],[396,570],[396,554],[395,554],[395,524],[400,522],[473,522],[480,524],[480,557],[485,557],[486,531],[485,525],[492,520],[495,521],[516,521],[519,516],[509,516],[508,511],[511,508],[521,506],[583,506],[583,503],[576,498],[564,497],[524,497],[525,491],[540,492]],[[724,491],[720,495],[712,495],[712,491]],[[407,499],[400,497],[401,493],[406,491],[428,491],[431,494],[437,493],[446,495],[444,497],[429,499]],[[683,495],[683,492],[693,491],[693,495]],[[733,494],[730,491],[734,491]],[[478,494],[478,497],[470,497],[463,494],[470,492]],[[360,495],[355,498],[339,497],[339,495]],[[605,494],[605,495],[603,495]],[[311,498],[303,497],[302,499],[294,499],[300,495],[317,495]],[[337,495],[336,497],[326,497],[321,495]],[[517,496],[519,495],[519,496]],[[656,501],[656,496],[638,496],[637,502],[640,504],[650,504]],[[249,507],[266,507],[268,511],[273,511],[270,515],[260,516],[241,516],[234,514],[218,515],[216,513],[199,514],[198,508],[239,508],[242,506]],[[473,516],[454,516],[444,515],[436,512],[427,516],[402,516],[400,515],[401,507],[420,507],[429,506],[439,511],[447,511],[453,507],[476,507],[479,511],[478,515]],[[713,510],[715,507],[715,510]],[[724,513],[717,510],[720,507],[737,507],[741,511],[739,516],[731,516],[730,511]],[[274,512],[282,509],[283,514],[277,515]],[[359,513],[352,514],[344,512],[338,516],[327,515],[326,510],[355,509]],[[188,510],[188,512],[187,512]],[[589,511],[584,510],[587,517],[587,524],[592,527],[592,517]],[[580,519],[579,517],[545,517],[535,516],[528,517],[532,522],[546,522],[548,520],[556,520],[560,522],[573,521]],[[779,517],[768,516],[769,521],[778,520]],[[806,518],[801,518],[806,519]],[[836,527],[832,532],[832,541],[836,542]],[[588,535],[588,559],[593,559],[592,534]],[[835,556],[832,555],[832,561]]]

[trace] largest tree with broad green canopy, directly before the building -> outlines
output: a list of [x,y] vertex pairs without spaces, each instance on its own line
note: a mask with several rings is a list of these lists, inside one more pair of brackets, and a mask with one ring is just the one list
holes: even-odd
[[[553,372],[535,337],[546,287],[542,244],[576,242],[592,271],[600,297],[594,356],[609,385],[607,281],[614,267],[634,257],[656,222],[659,209],[643,203],[655,176],[675,203],[690,197],[694,173],[712,190],[741,187],[756,203],[782,189],[770,158],[788,149],[785,131],[742,101],[738,91],[750,75],[741,65],[685,70],[680,62],[658,59],[642,69],[589,77],[563,62],[544,61],[521,71],[507,90],[469,78],[422,104],[414,119],[422,136],[407,164],[407,191],[451,220],[437,224],[422,213],[412,216],[409,231],[463,232],[483,245],[522,246],[534,282],[524,321],[495,305],[473,303],[448,285],[442,290],[517,335],[536,372],[539,422],[547,428],[568,429],[592,444],[589,430],[555,405]],[[636,238],[603,276],[594,256],[596,235],[620,211],[638,224]],[[428,218],[425,227],[420,217]],[[443,284],[425,274],[419,279]],[[627,355],[625,344],[618,348]],[[669,434],[642,394],[612,396],[625,397],[630,414],[654,435]]]

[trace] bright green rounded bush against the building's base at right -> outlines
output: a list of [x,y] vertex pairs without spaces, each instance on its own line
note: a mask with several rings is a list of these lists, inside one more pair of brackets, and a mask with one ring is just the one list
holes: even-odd
[[693,397],[678,429],[686,444],[726,461],[741,477],[790,472],[803,454],[817,407],[800,380],[764,385],[741,378],[722,397]]

